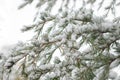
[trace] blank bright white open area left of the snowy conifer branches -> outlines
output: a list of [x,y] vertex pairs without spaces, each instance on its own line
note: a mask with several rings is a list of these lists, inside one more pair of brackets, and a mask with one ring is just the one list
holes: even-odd
[[34,6],[18,10],[22,0],[0,0],[0,52],[18,41],[32,38],[32,32],[22,33],[23,25],[31,24],[35,16]]

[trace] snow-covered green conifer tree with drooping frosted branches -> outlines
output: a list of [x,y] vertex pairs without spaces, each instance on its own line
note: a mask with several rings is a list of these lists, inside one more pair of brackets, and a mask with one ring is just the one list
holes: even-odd
[[[35,1],[24,0],[19,9]],[[119,5],[119,0],[36,1],[34,22],[22,29],[35,35],[2,62],[3,80],[120,80],[113,72],[120,64]]]

